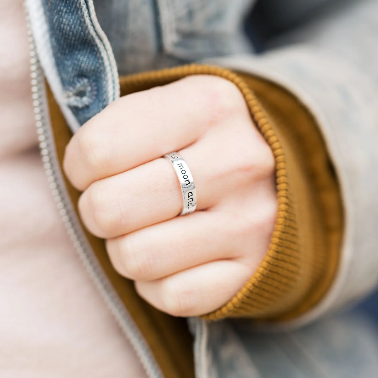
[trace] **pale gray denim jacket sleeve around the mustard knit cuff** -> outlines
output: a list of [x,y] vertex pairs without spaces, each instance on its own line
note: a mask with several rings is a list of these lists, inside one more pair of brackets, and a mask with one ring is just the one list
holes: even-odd
[[338,274],[300,323],[360,298],[378,281],[378,1],[339,2],[272,45],[259,56],[212,63],[294,93],[317,120],[335,166],[345,217]]

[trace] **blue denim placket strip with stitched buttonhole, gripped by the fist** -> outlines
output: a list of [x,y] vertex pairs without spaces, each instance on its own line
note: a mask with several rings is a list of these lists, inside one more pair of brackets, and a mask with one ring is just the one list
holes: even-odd
[[83,124],[116,98],[118,77],[108,67],[88,1],[43,0],[43,7],[65,104]]

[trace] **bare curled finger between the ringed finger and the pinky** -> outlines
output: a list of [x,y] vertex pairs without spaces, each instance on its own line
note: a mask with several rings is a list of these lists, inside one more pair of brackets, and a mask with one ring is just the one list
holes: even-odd
[[237,238],[226,214],[206,211],[108,239],[106,248],[119,274],[149,281],[213,260],[238,258]]

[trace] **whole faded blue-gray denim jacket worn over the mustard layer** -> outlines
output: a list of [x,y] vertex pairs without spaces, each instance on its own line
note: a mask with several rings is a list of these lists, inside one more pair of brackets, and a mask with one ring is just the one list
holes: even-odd
[[[348,221],[345,257],[338,279],[324,301],[297,320],[300,325],[332,307],[361,297],[377,281],[371,270],[376,271],[378,266],[378,256],[373,253],[378,211],[370,211],[367,216],[365,210],[378,209],[378,202],[376,196],[361,196],[361,192],[366,187],[372,188],[372,192],[373,188],[378,189],[378,178],[365,173],[374,171],[378,163],[373,145],[373,140],[378,140],[375,69],[378,49],[376,37],[360,23],[364,23],[363,15],[369,15],[377,27],[378,5],[374,0],[364,0],[342,9],[327,8],[325,17],[301,26],[300,21],[309,12],[328,2],[270,0],[268,3],[276,10],[271,13],[270,25],[277,30],[288,29],[288,33],[274,41],[274,45],[282,47],[256,57],[254,46],[243,33],[243,22],[255,5],[254,0],[26,0],[31,28],[32,84],[35,93],[42,93],[43,102],[43,86],[37,86],[42,74],[40,64],[72,132],[119,97],[119,73],[191,61],[206,60],[266,77],[302,99],[319,120],[327,140],[343,187]],[[330,14],[331,21],[326,17]],[[290,29],[291,24],[299,26]],[[358,46],[357,54],[345,25],[355,25],[353,36],[360,33],[365,42],[364,46]],[[335,59],[337,55],[342,59]],[[366,59],[368,55],[370,59]],[[322,77],[327,80],[322,81]],[[361,99],[366,99],[364,104]],[[48,129],[44,112],[43,107],[36,110],[41,133]],[[50,134],[47,130],[47,138]],[[348,151],[361,143],[367,155],[359,153],[357,166]],[[49,156],[43,151],[43,156]],[[356,169],[361,171],[362,166],[364,170],[356,176]],[[59,180],[59,174],[51,178],[53,191],[59,187]],[[74,229],[77,221],[69,206],[60,212],[64,222]],[[364,228],[368,223],[370,226]],[[73,242],[125,336],[132,341],[147,374],[162,377],[132,319],[93,257],[79,243],[80,234],[77,231],[79,236],[72,237]],[[357,261],[353,251],[358,251],[362,258]],[[377,338],[366,321],[357,322],[354,316],[325,320],[293,331],[289,324],[284,326],[284,333],[277,335],[232,321],[210,324],[193,318],[188,322],[195,336],[197,378],[355,377],[376,376],[378,371],[378,364],[365,353],[366,345],[370,345],[369,350],[378,351]],[[344,345],[331,350],[333,332],[341,335]]]

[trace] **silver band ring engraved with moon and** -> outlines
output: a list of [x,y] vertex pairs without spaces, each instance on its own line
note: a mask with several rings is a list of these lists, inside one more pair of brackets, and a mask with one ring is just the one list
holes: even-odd
[[163,156],[172,164],[178,181],[180,181],[183,194],[183,208],[179,215],[190,214],[197,207],[197,193],[195,191],[193,176],[185,160],[177,152],[167,153]]

